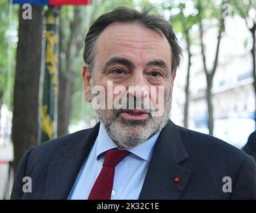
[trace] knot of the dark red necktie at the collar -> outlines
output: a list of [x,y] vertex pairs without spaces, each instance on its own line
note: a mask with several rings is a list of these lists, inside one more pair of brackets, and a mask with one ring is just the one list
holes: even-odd
[[119,164],[119,162],[123,160],[123,158],[125,158],[128,154],[129,154],[129,151],[127,150],[121,150],[121,149],[108,150],[105,156],[103,166],[111,166],[115,168],[115,166],[117,166],[117,164]]

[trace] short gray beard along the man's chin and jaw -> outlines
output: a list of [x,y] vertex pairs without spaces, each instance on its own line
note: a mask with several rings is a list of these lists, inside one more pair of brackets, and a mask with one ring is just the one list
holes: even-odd
[[[92,85],[93,86],[93,85]],[[117,109],[94,109],[109,137],[121,148],[133,148],[159,132],[169,121],[171,94],[165,100],[163,116],[149,116],[146,120],[126,120]],[[150,110],[149,110],[150,111]]]

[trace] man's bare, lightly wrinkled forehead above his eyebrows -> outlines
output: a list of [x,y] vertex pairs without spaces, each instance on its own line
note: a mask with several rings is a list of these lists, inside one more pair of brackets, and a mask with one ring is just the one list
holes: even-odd
[[171,68],[171,47],[163,33],[138,24],[113,23],[99,35],[95,64],[102,65],[111,57],[124,57],[135,65],[162,59]]

